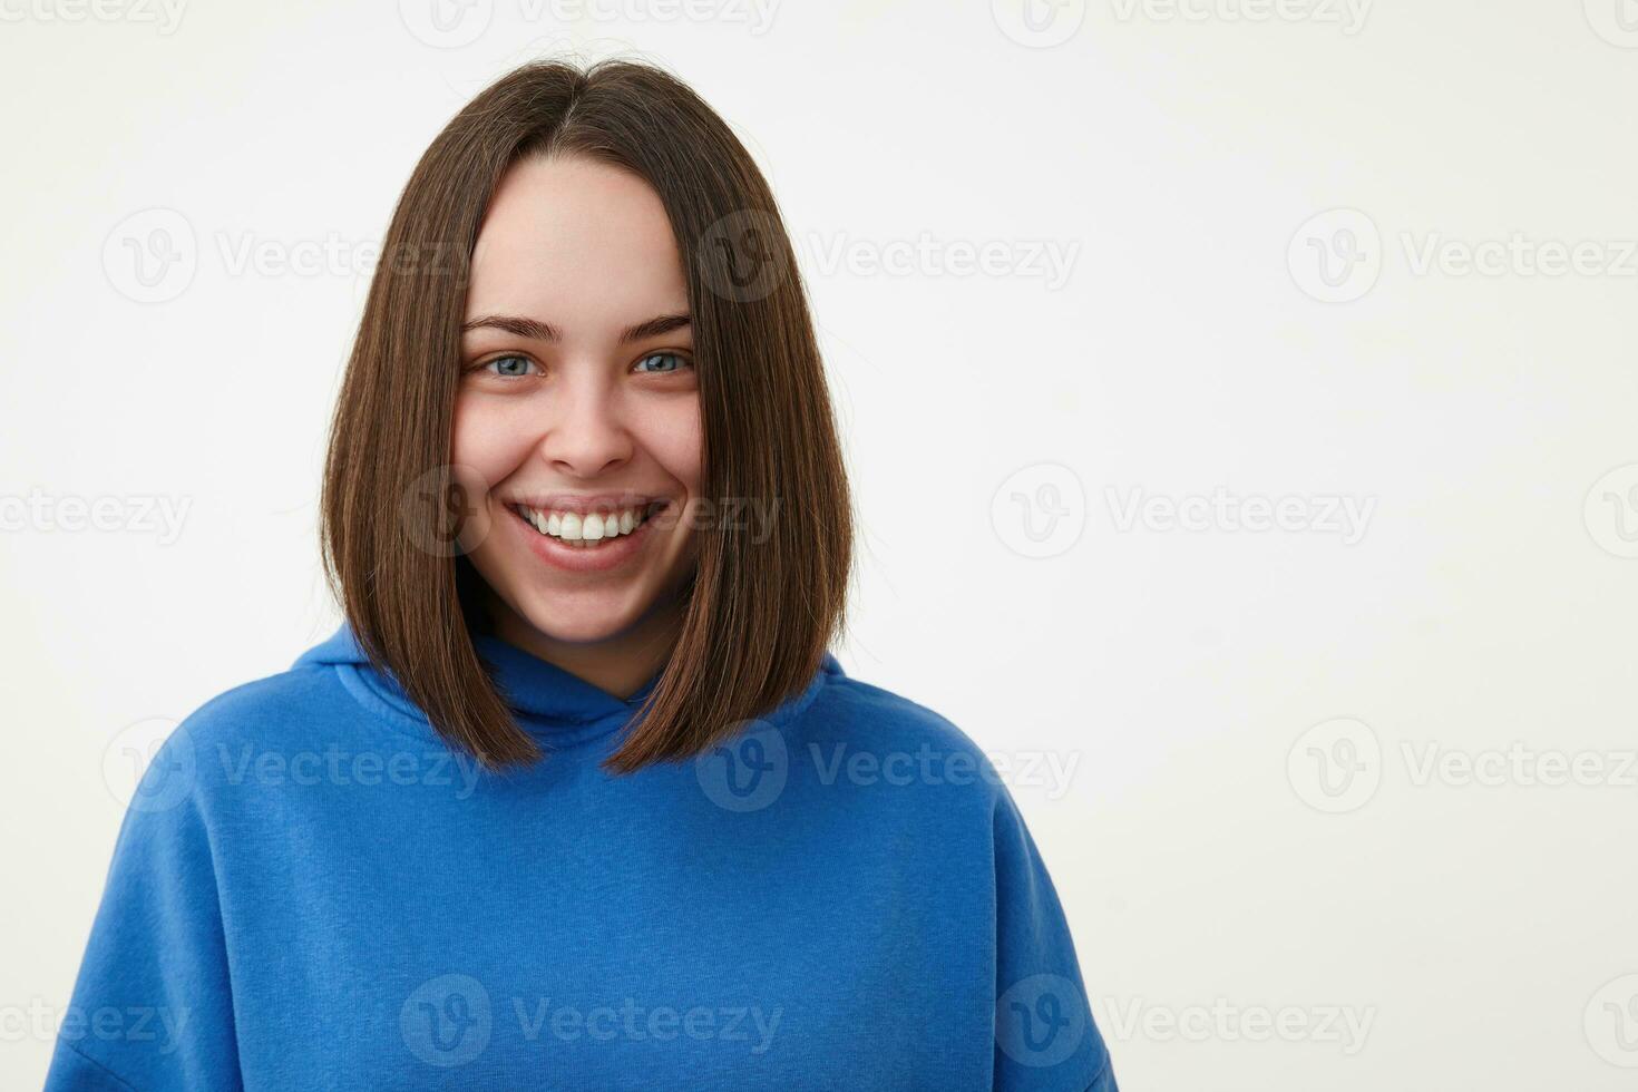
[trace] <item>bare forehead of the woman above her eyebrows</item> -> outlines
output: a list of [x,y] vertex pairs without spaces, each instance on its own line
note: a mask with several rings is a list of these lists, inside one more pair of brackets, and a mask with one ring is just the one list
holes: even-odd
[[521,314],[596,336],[686,311],[660,195],[590,159],[527,159],[501,177],[472,252],[467,318]]

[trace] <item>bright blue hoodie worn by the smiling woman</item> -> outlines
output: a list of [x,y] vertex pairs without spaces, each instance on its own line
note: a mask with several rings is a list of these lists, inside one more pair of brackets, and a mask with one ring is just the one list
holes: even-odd
[[598,768],[629,701],[477,640],[547,750],[491,774],[342,625],[143,778],[48,1092],[1114,1092],[983,751],[848,678],[698,761]]

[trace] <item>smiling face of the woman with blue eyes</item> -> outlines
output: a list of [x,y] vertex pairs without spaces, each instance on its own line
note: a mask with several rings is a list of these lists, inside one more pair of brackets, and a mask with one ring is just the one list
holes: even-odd
[[622,634],[695,563],[699,386],[658,195],[581,157],[513,165],[473,249],[460,367],[473,566],[549,640]]

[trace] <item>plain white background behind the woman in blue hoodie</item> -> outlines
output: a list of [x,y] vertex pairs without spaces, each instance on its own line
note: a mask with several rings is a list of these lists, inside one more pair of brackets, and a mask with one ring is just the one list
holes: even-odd
[[863,516],[839,655],[1016,769],[1122,1087],[1631,1087],[1638,8],[429,2],[0,0],[0,1084],[110,745],[336,622],[324,429],[413,162],[573,46],[767,170]]

